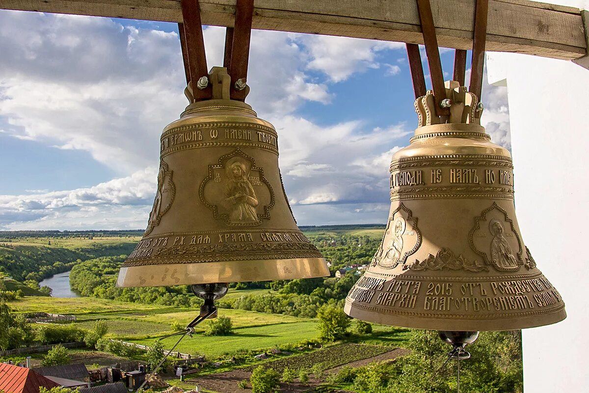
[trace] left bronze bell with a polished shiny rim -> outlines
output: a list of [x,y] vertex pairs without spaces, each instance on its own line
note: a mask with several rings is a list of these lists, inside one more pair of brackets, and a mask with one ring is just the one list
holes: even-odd
[[188,105],[161,134],[147,230],[121,267],[117,286],[329,275],[325,259],[294,221],[278,168],[276,130],[250,105],[230,100],[226,68],[214,67],[209,81],[213,99]]

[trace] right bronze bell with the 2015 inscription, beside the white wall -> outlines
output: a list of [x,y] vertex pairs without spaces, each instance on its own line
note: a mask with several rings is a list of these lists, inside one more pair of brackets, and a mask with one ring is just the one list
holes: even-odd
[[431,91],[419,127],[391,163],[391,212],[372,263],[346,298],[354,318],[441,331],[548,325],[566,317],[537,269],[514,210],[509,152],[479,125],[482,105],[446,82],[449,116]]

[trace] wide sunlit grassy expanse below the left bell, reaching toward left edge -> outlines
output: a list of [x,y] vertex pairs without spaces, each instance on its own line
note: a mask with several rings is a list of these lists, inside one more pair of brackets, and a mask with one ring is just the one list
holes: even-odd
[[[198,315],[198,309],[178,309],[168,306],[125,303],[95,298],[40,298],[26,297],[8,305],[15,312],[51,312],[76,315],[76,325],[91,329],[94,321],[105,319],[110,338],[123,339],[150,345],[154,338],[173,332],[172,323],[187,325]],[[317,330],[313,319],[259,313],[233,309],[219,309],[220,316],[231,318],[234,334],[224,337],[202,335],[207,321],[196,327],[194,338],[186,338],[178,351],[204,354],[209,357],[237,352],[243,349],[270,348],[296,344],[315,338]],[[176,338],[164,339],[171,348]]]

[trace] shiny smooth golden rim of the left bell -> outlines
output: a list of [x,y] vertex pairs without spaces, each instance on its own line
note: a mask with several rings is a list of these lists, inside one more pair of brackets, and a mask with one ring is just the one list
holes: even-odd
[[330,276],[330,272],[325,258],[322,257],[164,263],[121,267],[117,278],[117,288],[290,280],[326,276]]

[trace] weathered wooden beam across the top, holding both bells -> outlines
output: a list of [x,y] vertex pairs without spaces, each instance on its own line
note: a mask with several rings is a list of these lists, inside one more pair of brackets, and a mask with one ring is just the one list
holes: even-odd
[[[438,43],[471,49],[474,0],[431,0]],[[233,27],[236,0],[201,0],[203,24]],[[178,0],[2,0],[2,9],[182,22]],[[256,0],[254,29],[423,44],[415,1]],[[587,53],[581,11],[525,0],[489,0],[487,51],[571,60]]]

